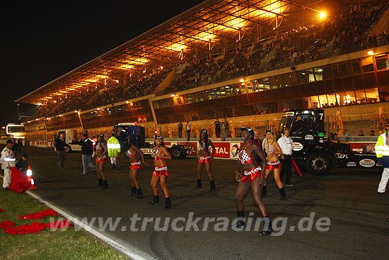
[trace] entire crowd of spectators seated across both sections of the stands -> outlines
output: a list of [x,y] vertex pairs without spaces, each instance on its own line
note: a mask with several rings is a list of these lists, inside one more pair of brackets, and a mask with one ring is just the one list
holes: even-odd
[[[222,57],[189,62],[163,94],[387,45],[389,32],[368,35],[387,7],[387,3],[361,6],[361,9],[339,13],[322,23],[276,33],[252,47],[236,47]],[[163,69],[146,77],[134,74],[120,80],[106,80],[88,91],[62,96],[57,103],[49,101],[33,116],[57,115],[146,96],[156,89],[168,72],[168,69]]]

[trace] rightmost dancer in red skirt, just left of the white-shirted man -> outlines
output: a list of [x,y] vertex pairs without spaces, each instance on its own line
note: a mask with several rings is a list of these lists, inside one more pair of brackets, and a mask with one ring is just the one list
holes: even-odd
[[[279,147],[277,141],[274,138],[274,133],[271,130],[266,131],[266,147],[265,152],[267,154],[267,167],[265,171],[265,179],[269,176],[270,172],[274,172],[274,181],[277,184],[279,193],[281,194],[281,200],[286,200],[286,193],[284,184],[282,184],[279,174],[281,173],[281,162],[279,162],[279,156],[282,154],[281,147]],[[266,195],[266,183],[263,186],[264,193]]]

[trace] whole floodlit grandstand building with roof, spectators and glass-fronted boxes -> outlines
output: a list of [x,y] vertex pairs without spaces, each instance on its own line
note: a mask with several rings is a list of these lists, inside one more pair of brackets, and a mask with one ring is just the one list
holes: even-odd
[[234,136],[240,125],[272,128],[292,108],[325,108],[333,118],[365,113],[358,120],[378,132],[374,118],[389,109],[388,6],[204,1],[16,102],[38,106],[25,122],[32,140],[119,122],[177,137],[177,123],[189,120],[195,132],[212,134],[211,122],[224,117]]

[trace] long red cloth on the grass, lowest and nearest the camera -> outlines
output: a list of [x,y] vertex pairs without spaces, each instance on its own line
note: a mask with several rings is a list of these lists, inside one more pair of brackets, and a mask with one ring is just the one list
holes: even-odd
[[45,228],[57,229],[65,227],[73,227],[73,225],[71,225],[71,223],[67,220],[48,223],[33,222],[30,225],[25,224],[18,227],[5,227],[3,232],[8,234],[33,234],[40,233],[40,231],[45,230]]

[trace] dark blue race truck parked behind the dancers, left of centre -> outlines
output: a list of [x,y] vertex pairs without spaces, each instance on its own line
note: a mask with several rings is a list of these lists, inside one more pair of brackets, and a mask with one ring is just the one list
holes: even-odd
[[[151,155],[153,153],[153,145],[146,142],[145,140],[145,131],[144,127],[141,125],[135,125],[134,123],[119,123],[113,128],[113,132],[117,137],[117,140],[120,142],[120,147],[122,154],[126,154],[129,149],[129,137],[134,136],[137,140],[137,145],[139,149],[146,155]],[[192,148],[185,147],[184,145],[170,145],[166,146],[168,152],[172,155],[173,159],[182,159],[187,155],[192,154]]]

